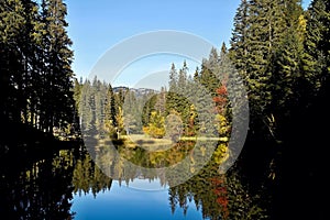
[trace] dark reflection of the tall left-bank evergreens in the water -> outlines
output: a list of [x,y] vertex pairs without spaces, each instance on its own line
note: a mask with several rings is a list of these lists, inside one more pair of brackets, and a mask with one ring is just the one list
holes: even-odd
[[[1,161],[0,212],[8,219],[72,219],[73,154],[61,151],[44,158]],[[29,157],[30,158],[30,157]],[[6,164],[2,164],[6,162]]]

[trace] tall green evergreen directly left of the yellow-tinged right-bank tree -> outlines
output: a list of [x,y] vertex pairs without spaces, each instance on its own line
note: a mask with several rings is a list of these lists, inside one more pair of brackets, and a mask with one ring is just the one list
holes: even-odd
[[[283,32],[283,11],[280,0],[250,1],[249,9],[249,50],[246,76],[250,105],[253,108],[252,117],[262,118],[268,113],[272,101],[270,59],[279,44],[279,34]],[[260,127],[260,125],[258,125]]]

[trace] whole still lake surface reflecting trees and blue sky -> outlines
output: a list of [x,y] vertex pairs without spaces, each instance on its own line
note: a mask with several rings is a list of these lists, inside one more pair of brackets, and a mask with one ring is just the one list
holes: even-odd
[[[98,147],[102,157],[84,146],[8,154],[1,157],[0,213],[10,219],[266,218],[262,199],[249,191],[235,168],[220,174],[213,157],[198,166],[202,155],[191,153],[190,145],[175,147],[169,160],[168,154],[146,158],[144,150],[121,147],[117,156]],[[189,175],[179,173],[187,176],[180,182],[162,168],[146,173],[118,163],[123,156],[139,166],[170,167],[172,161],[185,157],[183,152],[190,165]]]

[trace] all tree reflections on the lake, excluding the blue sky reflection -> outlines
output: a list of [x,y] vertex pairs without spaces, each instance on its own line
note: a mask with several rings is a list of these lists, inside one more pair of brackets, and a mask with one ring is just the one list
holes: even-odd
[[[202,147],[193,148],[191,144],[179,143],[163,154],[156,153],[157,155],[139,147],[119,146],[120,154],[114,156],[111,151],[99,147],[97,152],[103,151],[98,156],[103,165],[102,169],[85,148],[63,150],[24,161],[15,161],[15,156],[9,156],[2,160],[0,169],[1,215],[8,215],[10,219],[72,219],[75,216],[70,211],[74,195],[92,194],[97,198],[98,194],[110,190],[112,179],[125,185],[135,178],[160,179],[162,185],[172,186],[168,179],[173,178],[167,178],[173,175],[170,172],[143,174],[136,168],[125,167],[121,163],[123,158],[139,166],[157,167],[169,166],[188,156],[189,164],[185,166],[194,176],[169,187],[169,212],[174,213],[179,207],[186,213],[189,201],[194,200],[206,219],[266,218],[263,199],[260,195],[249,193],[235,168],[231,168],[226,175],[219,174],[219,160],[213,156],[205,167],[195,169],[199,166],[197,157],[205,155]],[[13,163],[15,166],[10,166]],[[110,170],[116,174],[112,178],[105,174]]]

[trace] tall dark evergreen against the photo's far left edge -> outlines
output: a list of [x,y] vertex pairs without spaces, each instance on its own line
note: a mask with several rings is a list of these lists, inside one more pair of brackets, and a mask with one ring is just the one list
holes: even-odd
[[1,55],[1,114],[21,121],[23,107],[23,57],[20,51],[22,32],[26,23],[22,1],[0,2]]

